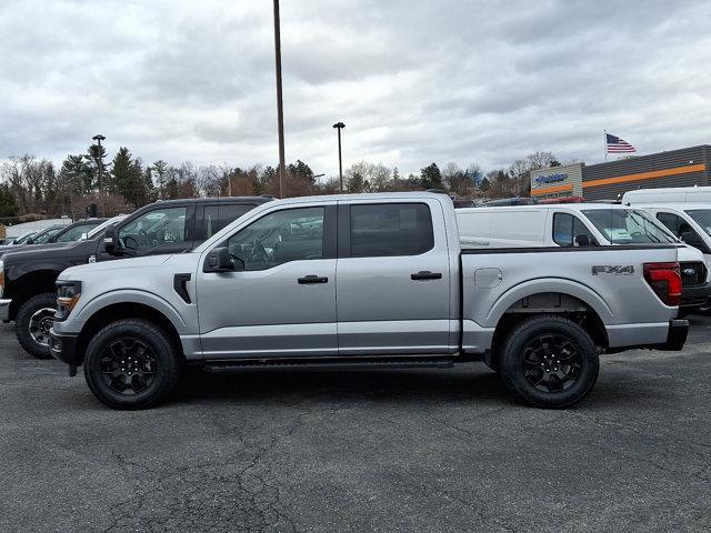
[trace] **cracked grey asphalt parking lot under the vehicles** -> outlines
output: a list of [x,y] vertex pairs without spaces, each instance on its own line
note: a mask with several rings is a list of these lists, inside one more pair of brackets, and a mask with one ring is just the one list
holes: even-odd
[[194,375],[116,412],[0,325],[0,531],[709,531],[711,319],[578,408],[451,370]]

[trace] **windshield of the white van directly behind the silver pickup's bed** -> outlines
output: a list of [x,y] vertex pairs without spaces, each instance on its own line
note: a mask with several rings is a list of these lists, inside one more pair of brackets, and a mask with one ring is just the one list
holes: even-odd
[[582,212],[612,244],[649,244],[678,242],[644,211],[632,209],[595,209]]

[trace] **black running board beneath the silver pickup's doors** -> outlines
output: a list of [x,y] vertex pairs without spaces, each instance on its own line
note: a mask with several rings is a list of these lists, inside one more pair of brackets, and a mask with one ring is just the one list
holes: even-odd
[[365,370],[365,369],[450,369],[451,359],[377,360],[377,361],[242,361],[210,362],[202,370],[211,373],[244,370]]

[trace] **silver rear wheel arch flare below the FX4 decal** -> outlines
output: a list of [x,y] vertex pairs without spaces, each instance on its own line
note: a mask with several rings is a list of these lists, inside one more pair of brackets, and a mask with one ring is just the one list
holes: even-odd
[[559,292],[577,298],[598,313],[603,324],[609,324],[614,318],[614,313],[602,296],[588,285],[567,278],[541,278],[519,283],[501,294],[489,310],[487,322],[495,326],[503,313],[515,302],[544,292]]

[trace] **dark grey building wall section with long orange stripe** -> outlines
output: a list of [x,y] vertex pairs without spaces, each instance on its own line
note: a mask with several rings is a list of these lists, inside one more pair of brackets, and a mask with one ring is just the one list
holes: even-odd
[[584,165],[582,195],[585,200],[615,200],[635,189],[709,185],[709,155],[711,147],[703,144]]

